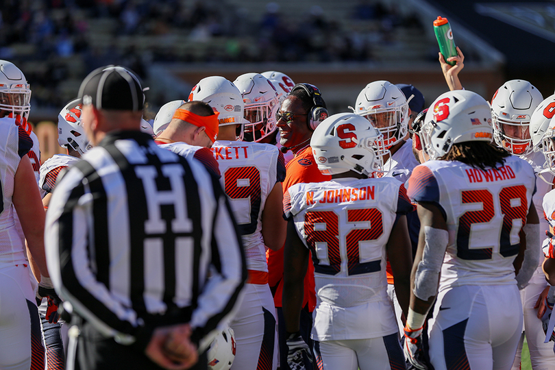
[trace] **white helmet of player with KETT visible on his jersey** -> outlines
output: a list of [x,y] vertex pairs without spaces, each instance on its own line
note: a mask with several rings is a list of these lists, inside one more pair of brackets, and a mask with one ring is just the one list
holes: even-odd
[[219,112],[220,126],[240,125],[238,140],[242,140],[243,126],[249,121],[243,117],[245,103],[237,86],[221,76],[205,77],[191,90],[188,101],[193,100],[204,101]]

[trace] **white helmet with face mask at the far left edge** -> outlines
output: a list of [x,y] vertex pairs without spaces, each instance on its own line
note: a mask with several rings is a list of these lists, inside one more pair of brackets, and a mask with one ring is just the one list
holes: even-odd
[[8,111],[28,118],[31,89],[25,75],[15,64],[0,60],[0,112]]

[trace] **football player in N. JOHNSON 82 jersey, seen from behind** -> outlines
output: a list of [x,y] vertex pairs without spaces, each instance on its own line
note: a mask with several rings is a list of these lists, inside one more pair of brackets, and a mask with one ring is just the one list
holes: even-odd
[[[327,182],[295,184],[284,195],[288,218],[284,249],[283,310],[295,363],[306,346],[299,339],[301,281],[309,249],[317,307],[312,339],[318,369],[404,369],[395,312],[386,291],[386,254],[400,304],[407,312],[412,252],[405,214],[412,210],[401,182],[381,171],[383,136],[352,113],[325,119],[310,146]],[[293,369],[293,367],[292,367]]]

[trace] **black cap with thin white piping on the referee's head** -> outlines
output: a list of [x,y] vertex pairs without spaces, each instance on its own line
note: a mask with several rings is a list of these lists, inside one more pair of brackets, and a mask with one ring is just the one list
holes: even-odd
[[79,99],[103,110],[143,110],[145,95],[138,77],[123,66],[103,66],[89,73],[79,87]]

